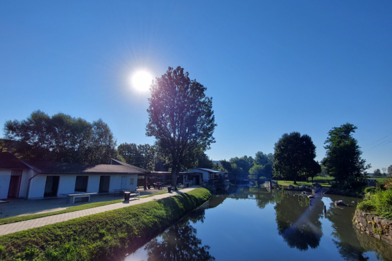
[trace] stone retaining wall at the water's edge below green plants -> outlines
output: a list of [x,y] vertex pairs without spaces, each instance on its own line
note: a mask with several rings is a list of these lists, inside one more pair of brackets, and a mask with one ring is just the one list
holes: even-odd
[[360,210],[355,211],[352,223],[361,232],[392,244],[392,221]]

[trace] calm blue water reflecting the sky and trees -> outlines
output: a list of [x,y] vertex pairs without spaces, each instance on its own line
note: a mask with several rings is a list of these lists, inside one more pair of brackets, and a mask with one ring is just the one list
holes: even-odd
[[[298,193],[232,189],[231,194],[215,195],[125,260],[392,259],[392,246],[352,227],[358,199],[324,196],[309,205]],[[332,202],[339,199],[352,206],[335,207]]]

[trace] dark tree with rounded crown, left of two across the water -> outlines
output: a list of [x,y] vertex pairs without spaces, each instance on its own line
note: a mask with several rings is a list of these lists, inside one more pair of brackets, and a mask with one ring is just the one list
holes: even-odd
[[298,175],[310,171],[316,158],[316,146],[308,135],[284,133],[275,143],[273,170],[275,176],[292,178],[297,184]]

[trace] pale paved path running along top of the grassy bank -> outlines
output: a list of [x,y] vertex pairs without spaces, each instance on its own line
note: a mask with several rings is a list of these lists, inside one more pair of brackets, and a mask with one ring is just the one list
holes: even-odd
[[39,219],[30,219],[27,221],[20,221],[20,222],[16,222],[16,223],[1,225],[0,226],[0,235],[8,235],[10,233],[19,232],[22,230],[28,230],[31,228],[39,228],[40,226],[55,224],[55,223],[59,223],[62,221],[67,221],[69,219],[76,219],[78,217],[89,216],[90,214],[97,214],[97,213],[106,212],[106,211],[110,211],[110,210],[117,210],[119,208],[129,207],[130,205],[137,205],[137,204],[145,203],[148,201],[154,201],[157,199],[164,199],[169,196],[176,196],[178,194],[189,192],[194,189],[195,189],[194,187],[189,187],[187,189],[182,189],[182,190],[176,191],[176,192],[160,194],[157,196],[150,196],[149,198],[146,198],[146,199],[142,198],[140,200],[137,200],[137,199],[132,198],[132,199],[130,199],[129,203],[128,202],[127,203],[123,203],[123,202],[114,203],[114,204],[110,204],[110,205],[103,205],[103,206],[97,207],[97,208],[89,208],[87,210],[78,210],[78,211],[68,212],[68,213],[64,213],[64,214],[55,214],[55,215],[49,216],[49,217],[40,217]]

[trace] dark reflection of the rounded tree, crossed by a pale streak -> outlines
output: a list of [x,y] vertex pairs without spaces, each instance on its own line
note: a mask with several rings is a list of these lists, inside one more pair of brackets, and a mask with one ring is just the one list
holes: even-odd
[[309,199],[298,195],[284,194],[284,200],[275,205],[276,224],[278,233],[282,235],[284,242],[291,248],[300,251],[316,249],[323,236],[321,221],[323,208],[320,199],[312,200],[312,207],[309,207]]

